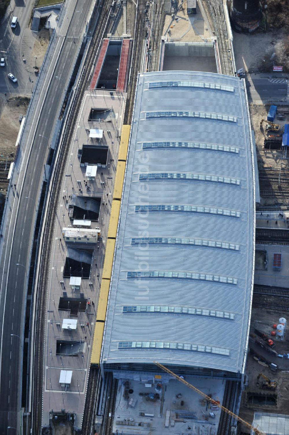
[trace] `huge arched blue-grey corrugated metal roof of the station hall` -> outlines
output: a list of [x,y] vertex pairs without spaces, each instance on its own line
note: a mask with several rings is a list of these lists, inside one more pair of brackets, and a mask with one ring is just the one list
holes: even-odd
[[[168,85],[176,77],[182,86]],[[149,86],[156,82],[167,84]],[[226,90],[232,87],[233,92]],[[149,112],[161,116],[148,118]],[[217,116],[188,117],[187,112]],[[192,173],[204,177],[181,178]],[[212,177],[239,183],[212,183]],[[103,361],[157,360],[243,371],[252,298],[254,199],[243,80],[187,71],[140,76]]]

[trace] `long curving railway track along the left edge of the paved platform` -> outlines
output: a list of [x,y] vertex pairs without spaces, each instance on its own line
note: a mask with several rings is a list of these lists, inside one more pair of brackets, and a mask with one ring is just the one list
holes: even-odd
[[[67,122],[60,144],[60,156],[56,162],[56,169],[51,182],[52,192],[48,204],[47,218],[44,224],[43,244],[40,253],[40,273],[37,282],[37,306],[35,316],[35,345],[33,356],[33,415],[32,433],[41,435],[42,425],[42,399],[43,399],[43,357],[44,357],[44,333],[45,333],[45,306],[46,290],[49,278],[50,251],[53,241],[54,222],[56,220],[57,204],[60,196],[63,173],[66,159],[73,137],[76,119],[80,110],[84,91],[89,82],[91,70],[98,53],[100,42],[106,30],[110,18],[111,1],[104,0],[99,22],[90,43],[85,65],[80,75],[79,84],[76,88],[72,104],[67,114]],[[86,418],[90,418],[86,416]]]

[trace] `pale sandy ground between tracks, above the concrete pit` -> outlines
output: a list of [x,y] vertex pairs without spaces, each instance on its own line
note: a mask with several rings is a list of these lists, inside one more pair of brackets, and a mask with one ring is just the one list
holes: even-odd
[[[206,22],[203,19],[201,11],[199,10],[199,5],[197,4],[197,13],[195,15],[188,16],[187,13],[187,1],[184,0],[183,7],[179,10],[179,17],[182,19],[174,20],[167,33],[168,41],[192,41],[192,42],[203,42],[204,40],[210,40],[211,33]],[[165,19],[165,24],[163,27],[163,32],[169,27],[172,17],[167,14]]]

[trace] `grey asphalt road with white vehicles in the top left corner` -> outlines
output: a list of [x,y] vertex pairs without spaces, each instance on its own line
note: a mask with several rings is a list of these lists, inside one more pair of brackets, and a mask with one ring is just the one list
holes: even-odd
[[[11,2],[12,3],[12,2]],[[0,93],[7,94],[31,94],[34,88],[36,77],[28,73],[23,63],[21,46],[24,31],[30,19],[32,0],[16,0],[12,6],[8,6],[8,14],[0,26],[0,57],[6,60],[6,66],[0,68]],[[13,9],[13,12],[12,12]],[[12,17],[18,18],[15,29],[11,29]],[[34,43],[32,39],[31,43]],[[17,77],[18,82],[13,83],[7,74],[12,73]]]

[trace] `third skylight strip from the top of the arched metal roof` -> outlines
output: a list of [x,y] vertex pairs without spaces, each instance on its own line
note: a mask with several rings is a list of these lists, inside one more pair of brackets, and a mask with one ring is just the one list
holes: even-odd
[[143,149],[149,148],[197,148],[202,150],[225,151],[236,154],[239,153],[238,147],[204,142],[143,142]]

